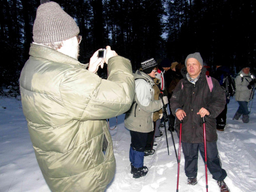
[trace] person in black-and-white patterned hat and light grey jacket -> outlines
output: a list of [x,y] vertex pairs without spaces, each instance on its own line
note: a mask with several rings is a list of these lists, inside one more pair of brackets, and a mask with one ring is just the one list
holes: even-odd
[[[147,133],[154,130],[153,113],[159,111],[168,103],[166,96],[161,100],[154,99],[154,81],[157,73],[157,63],[154,58],[141,63],[142,71],[134,74],[135,97],[132,107],[126,112],[124,126],[130,130],[131,147],[130,162],[131,174],[134,178],[143,177],[148,168],[144,166],[144,154],[147,141]],[[152,153],[153,154],[153,153]],[[149,154],[149,155],[152,155]]]

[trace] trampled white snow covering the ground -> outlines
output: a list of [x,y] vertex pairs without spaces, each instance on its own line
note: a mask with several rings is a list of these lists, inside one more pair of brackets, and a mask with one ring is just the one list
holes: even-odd
[[[249,105],[250,106],[250,105]],[[252,104],[250,122],[232,120],[238,109],[238,103],[231,99],[228,104],[227,125],[224,132],[218,131],[218,150],[222,167],[227,172],[225,182],[231,192],[256,191],[256,104]],[[27,122],[23,115],[22,104],[14,98],[0,98],[0,191],[36,191],[50,192],[37,164],[32,143],[30,141]],[[145,177],[132,177],[129,161],[131,136],[124,127],[124,115],[118,116],[116,129],[110,130],[116,157],[116,174],[106,188],[106,192],[167,192],[176,191],[177,159],[172,136],[167,131],[169,156],[165,133],[156,138],[156,153],[144,159],[148,167]],[[111,129],[116,118],[110,119]],[[207,127],[206,127],[207,129]],[[179,139],[174,132],[175,147],[178,153]],[[186,184],[184,173],[184,156],[181,152],[179,191],[201,192],[205,187],[205,166],[199,156],[198,184]],[[208,172],[208,191],[220,191],[217,182]]]

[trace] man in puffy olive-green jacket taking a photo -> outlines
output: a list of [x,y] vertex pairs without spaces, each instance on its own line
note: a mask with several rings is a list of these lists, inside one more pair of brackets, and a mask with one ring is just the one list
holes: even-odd
[[[102,119],[129,110],[135,94],[130,60],[107,46],[104,59],[96,51],[89,65],[80,63],[78,33],[75,20],[57,3],[41,1],[19,79],[36,159],[54,192],[104,191],[116,163]],[[104,62],[107,80],[95,74]]]

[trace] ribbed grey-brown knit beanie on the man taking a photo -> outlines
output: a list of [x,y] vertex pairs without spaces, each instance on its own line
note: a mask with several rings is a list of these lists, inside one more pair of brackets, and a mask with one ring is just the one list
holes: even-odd
[[[44,2],[44,1],[41,1]],[[36,11],[34,42],[49,43],[70,39],[79,33],[75,20],[55,2],[45,1]]]

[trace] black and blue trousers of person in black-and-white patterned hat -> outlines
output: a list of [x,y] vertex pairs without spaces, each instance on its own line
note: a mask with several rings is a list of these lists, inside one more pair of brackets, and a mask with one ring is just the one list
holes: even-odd
[[144,151],[147,140],[147,133],[131,131],[130,162],[136,168],[142,167],[144,163]]

